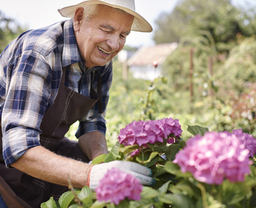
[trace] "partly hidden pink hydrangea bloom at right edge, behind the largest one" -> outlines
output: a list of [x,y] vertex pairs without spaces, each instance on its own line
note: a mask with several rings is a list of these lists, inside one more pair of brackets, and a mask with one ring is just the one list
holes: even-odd
[[251,134],[243,133],[241,129],[233,130],[233,134],[235,134],[238,139],[241,139],[246,149],[249,150],[249,155],[253,158],[256,153],[256,139]]

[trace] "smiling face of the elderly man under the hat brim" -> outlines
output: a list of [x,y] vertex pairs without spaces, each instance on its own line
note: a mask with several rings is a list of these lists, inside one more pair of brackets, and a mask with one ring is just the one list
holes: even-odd
[[75,18],[75,37],[83,64],[90,67],[108,63],[123,49],[133,18],[100,5],[97,15],[88,21],[85,18],[76,21]]

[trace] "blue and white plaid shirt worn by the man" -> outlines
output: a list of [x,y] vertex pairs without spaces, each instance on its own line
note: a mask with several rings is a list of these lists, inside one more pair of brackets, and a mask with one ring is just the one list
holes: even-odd
[[[75,39],[72,19],[26,31],[0,55],[0,118],[6,166],[31,147],[40,145],[39,126],[59,90],[62,67],[67,67],[65,85],[90,96],[91,71],[102,79],[103,113],[95,104],[80,120],[76,136],[86,132],[105,134],[105,113],[112,82],[112,61],[85,69]],[[97,90],[97,81],[94,83]]]

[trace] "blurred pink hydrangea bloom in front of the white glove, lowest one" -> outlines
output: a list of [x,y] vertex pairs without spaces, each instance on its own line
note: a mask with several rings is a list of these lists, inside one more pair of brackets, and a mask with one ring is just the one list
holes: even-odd
[[142,190],[143,185],[135,176],[122,172],[118,168],[113,168],[108,170],[105,177],[99,181],[95,191],[98,201],[110,201],[118,205],[120,201],[126,198],[140,201]]

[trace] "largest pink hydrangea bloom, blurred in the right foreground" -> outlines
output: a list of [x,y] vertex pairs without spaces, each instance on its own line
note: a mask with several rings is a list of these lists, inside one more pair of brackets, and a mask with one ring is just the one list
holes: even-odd
[[206,132],[187,141],[173,163],[178,163],[181,172],[191,172],[196,180],[208,184],[244,181],[249,174],[249,150],[235,134],[229,132]]

